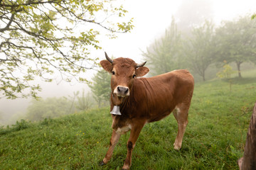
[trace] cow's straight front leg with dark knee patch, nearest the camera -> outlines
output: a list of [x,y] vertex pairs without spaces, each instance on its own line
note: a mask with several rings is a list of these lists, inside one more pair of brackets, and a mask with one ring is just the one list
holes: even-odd
[[135,143],[139,137],[139,133],[141,132],[143,126],[144,123],[132,126],[129,140],[127,142],[127,157],[125,159],[122,169],[129,169],[132,166],[132,150],[135,147]]

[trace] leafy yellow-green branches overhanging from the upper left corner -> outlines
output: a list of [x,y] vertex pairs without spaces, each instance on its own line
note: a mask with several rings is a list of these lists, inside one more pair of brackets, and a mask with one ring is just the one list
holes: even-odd
[[125,13],[107,0],[0,0],[0,98],[36,98],[40,86],[30,82],[52,81],[56,73],[87,81],[79,73],[95,66],[97,35],[132,29]]

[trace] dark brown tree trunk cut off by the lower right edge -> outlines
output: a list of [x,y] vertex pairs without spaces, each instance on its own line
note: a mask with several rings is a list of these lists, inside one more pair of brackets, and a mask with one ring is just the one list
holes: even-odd
[[256,103],[253,108],[252,118],[247,132],[244,156],[238,159],[238,166],[240,170],[256,169]]

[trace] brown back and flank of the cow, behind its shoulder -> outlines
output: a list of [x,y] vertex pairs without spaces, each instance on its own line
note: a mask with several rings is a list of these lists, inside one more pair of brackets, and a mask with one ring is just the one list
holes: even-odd
[[146,89],[148,122],[161,120],[169,115],[178,103],[191,100],[193,76],[180,69],[156,77],[142,78]]

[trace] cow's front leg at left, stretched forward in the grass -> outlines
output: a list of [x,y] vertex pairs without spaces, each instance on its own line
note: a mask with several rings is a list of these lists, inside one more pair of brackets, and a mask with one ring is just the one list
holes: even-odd
[[111,137],[111,140],[110,140],[110,147],[107,150],[107,154],[106,154],[105,158],[101,162],[102,165],[107,164],[107,162],[110,161],[110,159],[112,157],[112,154],[113,154],[113,151],[114,151],[114,147],[115,147],[115,145],[117,145],[117,142],[118,142],[120,136],[121,136],[121,134],[119,134],[119,133],[117,133],[113,130],[112,137]]

